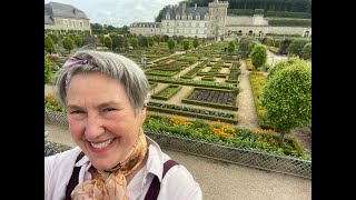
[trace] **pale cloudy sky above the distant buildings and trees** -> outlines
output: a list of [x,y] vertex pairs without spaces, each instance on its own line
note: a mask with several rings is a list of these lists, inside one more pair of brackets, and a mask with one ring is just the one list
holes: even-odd
[[83,11],[90,23],[130,26],[132,22],[155,22],[159,11],[167,4],[181,0],[44,0],[71,4]]

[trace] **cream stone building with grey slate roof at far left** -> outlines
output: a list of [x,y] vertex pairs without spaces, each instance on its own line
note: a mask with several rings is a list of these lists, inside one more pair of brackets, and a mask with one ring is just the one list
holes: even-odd
[[70,4],[49,2],[44,4],[44,30],[88,30],[91,33],[89,18]]

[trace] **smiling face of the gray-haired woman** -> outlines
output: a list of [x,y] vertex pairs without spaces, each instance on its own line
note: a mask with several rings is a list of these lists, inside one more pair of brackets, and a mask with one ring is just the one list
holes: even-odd
[[138,138],[146,108],[135,114],[125,88],[99,72],[72,77],[68,90],[71,137],[98,170],[123,161]]

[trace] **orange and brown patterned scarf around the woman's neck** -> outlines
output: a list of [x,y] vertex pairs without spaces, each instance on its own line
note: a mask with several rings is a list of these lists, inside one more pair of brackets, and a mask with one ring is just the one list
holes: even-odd
[[99,171],[97,179],[78,184],[71,192],[71,199],[128,200],[126,176],[132,173],[142,162],[147,152],[147,142],[142,128],[132,146],[129,157],[108,171]]

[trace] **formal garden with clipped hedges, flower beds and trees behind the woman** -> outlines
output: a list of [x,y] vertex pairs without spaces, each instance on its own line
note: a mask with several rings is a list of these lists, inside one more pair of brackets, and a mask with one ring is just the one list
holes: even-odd
[[[47,88],[63,61],[83,46],[123,54],[149,80],[144,129],[162,147],[312,178],[312,151],[288,136],[294,128],[312,134],[312,39],[44,36]],[[288,59],[271,66],[268,51]],[[258,129],[238,127],[241,64],[248,69]],[[47,123],[68,126],[66,110],[51,92],[44,93],[44,116]]]

